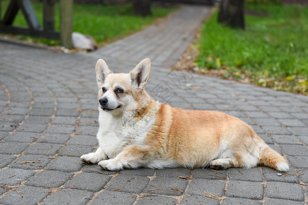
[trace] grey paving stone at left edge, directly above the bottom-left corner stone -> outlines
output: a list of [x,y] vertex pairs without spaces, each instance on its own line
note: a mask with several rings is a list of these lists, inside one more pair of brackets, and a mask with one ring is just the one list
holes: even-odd
[[25,169],[2,169],[0,171],[0,184],[14,186],[34,174],[35,172]]

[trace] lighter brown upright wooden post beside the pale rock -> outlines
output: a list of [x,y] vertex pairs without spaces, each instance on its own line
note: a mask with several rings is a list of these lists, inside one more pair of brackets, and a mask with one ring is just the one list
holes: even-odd
[[60,43],[72,49],[73,0],[60,0]]

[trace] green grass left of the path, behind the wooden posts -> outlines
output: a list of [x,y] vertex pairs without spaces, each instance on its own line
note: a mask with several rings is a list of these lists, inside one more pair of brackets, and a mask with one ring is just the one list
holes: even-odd
[[[42,25],[42,3],[33,3],[36,16]],[[2,1],[1,14],[4,16],[8,1]],[[74,4],[73,31],[88,34],[100,45],[123,38],[133,32],[143,29],[146,25],[154,23],[155,19],[162,18],[175,11],[177,8],[163,8],[153,5],[152,15],[141,17],[133,15],[131,4],[125,5],[80,5]],[[3,17],[2,17],[3,18]],[[13,25],[27,27],[27,22],[21,11],[18,12]],[[60,30],[59,5],[55,8],[55,29]],[[23,39],[29,37],[21,37]],[[30,38],[36,39],[36,38]],[[36,39],[38,40],[38,39]],[[47,44],[59,44],[54,40],[38,40]]]

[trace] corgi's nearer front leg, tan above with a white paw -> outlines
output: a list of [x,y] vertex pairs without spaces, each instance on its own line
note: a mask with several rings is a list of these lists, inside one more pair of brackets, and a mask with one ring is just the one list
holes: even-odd
[[116,171],[124,168],[136,169],[149,163],[149,148],[144,146],[131,146],[120,152],[116,158],[103,160],[99,165],[106,170]]

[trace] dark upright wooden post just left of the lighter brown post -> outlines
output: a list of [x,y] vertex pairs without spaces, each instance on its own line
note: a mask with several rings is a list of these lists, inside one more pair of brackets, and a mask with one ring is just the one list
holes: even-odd
[[43,27],[44,31],[53,31],[55,29],[55,1],[44,0],[43,1]]

